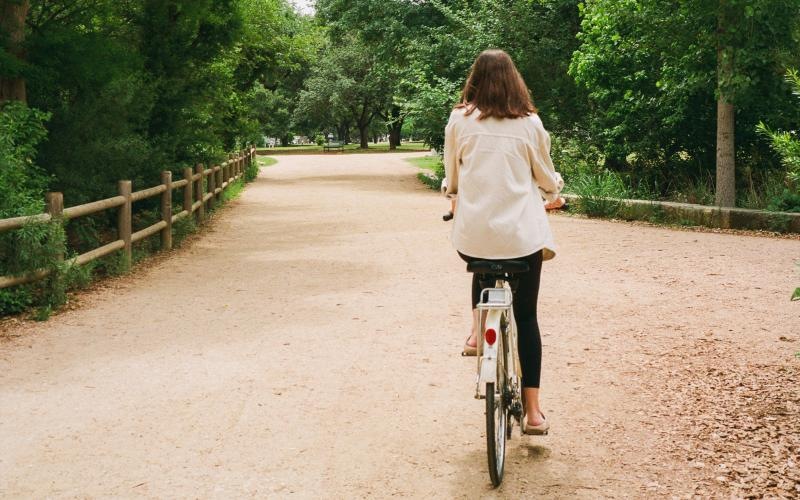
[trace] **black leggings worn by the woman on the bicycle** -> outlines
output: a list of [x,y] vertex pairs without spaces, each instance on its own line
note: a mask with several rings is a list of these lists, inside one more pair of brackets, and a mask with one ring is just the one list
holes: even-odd
[[[466,262],[479,259],[458,253]],[[536,303],[539,300],[539,281],[542,276],[542,251],[515,260],[526,260],[530,271],[517,275],[519,283],[514,290],[514,318],[517,320],[519,337],[519,360],[522,365],[522,386],[539,387],[542,374],[542,337],[536,316]],[[472,275],[472,308],[475,309],[481,298],[481,285],[478,275]]]

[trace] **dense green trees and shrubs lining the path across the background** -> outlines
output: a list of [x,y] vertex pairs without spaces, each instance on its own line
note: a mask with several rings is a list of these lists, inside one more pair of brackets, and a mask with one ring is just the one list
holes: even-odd
[[[0,218],[265,137],[440,150],[491,47],[517,62],[568,185],[800,211],[798,0],[318,0],[313,16],[286,0],[0,0],[0,15]],[[0,238],[0,275],[57,253],[33,250],[46,230],[19,233]]]

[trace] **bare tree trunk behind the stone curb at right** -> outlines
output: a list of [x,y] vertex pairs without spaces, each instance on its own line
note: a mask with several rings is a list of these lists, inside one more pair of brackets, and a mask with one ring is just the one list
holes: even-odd
[[735,117],[730,94],[734,73],[733,51],[728,33],[728,1],[720,0],[717,8],[717,187],[716,204],[736,204]]

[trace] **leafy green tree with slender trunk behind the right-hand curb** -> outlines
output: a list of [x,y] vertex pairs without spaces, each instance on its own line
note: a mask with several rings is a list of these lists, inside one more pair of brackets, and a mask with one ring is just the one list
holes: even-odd
[[776,70],[796,58],[799,9],[794,0],[586,2],[570,73],[588,91],[588,124],[609,166],[669,189],[714,165],[718,143],[718,201],[732,204],[733,144],[736,158],[763,169],[756,117],[785,123]]

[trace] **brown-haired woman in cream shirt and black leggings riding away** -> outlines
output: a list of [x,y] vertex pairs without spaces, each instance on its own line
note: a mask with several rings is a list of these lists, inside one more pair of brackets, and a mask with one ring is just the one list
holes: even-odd
[[[467,262],[518,259],[530,266],[519,275],[513,303],[528,434],[549,428],[539,405],[542,341],[536,303],[542,261],[555,256],[555,244],[542,197],[557,200],[564,184],[536,113],[511,57],[502,50],[484,51],[450,115],[444,146],[446,195],[458,202],[452,233],[458,254]],[[473,275],[473,329],[465,349],[477,345],[480,293]]]

